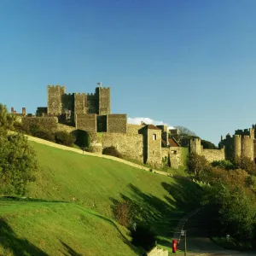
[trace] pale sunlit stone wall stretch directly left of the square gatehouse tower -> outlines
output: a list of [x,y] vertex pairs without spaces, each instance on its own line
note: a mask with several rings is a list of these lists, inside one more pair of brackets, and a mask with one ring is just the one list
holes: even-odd
[[97,143],[102,143],[102,148],[114,146],[121,154],[143,162],[143,135],[126,133],[97,133]]

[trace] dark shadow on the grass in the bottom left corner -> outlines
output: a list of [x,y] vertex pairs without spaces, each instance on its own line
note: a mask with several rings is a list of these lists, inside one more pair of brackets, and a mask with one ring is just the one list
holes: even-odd
[[0,218],[0,245],[14,255],[25,256],[25,255],[38,255],[47,256],[38,247],[32,245],[30,241],[19,238],[15,231],[9,226],[9,224]]

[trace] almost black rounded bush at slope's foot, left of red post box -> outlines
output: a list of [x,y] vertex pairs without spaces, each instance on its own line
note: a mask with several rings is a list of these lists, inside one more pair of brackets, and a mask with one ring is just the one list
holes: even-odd
[[136,247],[143,247],[147,252],[155,246],[156,234],[150,227],[138,224],[136,229],[131,230],[131,243]]

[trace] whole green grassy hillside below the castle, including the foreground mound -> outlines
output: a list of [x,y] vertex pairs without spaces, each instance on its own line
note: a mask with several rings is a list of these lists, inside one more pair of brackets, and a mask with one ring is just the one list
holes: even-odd
[[171,246],[177,219],[197,207],[195,183],[31,144],[42,168],[27,196],[41,201],[0,202],[0,255],[15,247],[41,255],[136,255],[128,230],[113,221],[115,204],[129,199],[137,221],[150,223],[163,247]]

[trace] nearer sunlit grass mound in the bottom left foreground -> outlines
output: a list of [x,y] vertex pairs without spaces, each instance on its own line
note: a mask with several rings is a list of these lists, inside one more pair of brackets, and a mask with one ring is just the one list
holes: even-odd
[[0,201],[0,207],[0,255],[137,255],[124,242],[124,228],[74,203]]

